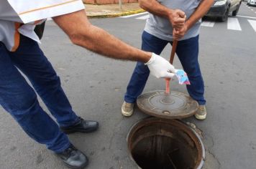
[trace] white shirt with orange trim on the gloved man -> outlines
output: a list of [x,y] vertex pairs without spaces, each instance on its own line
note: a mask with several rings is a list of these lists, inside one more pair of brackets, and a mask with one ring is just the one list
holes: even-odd
[[19,47],[19,34],[40,42],[34,32],[36,24],[85,8],[81,0],[0,0],[0,4],[0,42],[9,51]]

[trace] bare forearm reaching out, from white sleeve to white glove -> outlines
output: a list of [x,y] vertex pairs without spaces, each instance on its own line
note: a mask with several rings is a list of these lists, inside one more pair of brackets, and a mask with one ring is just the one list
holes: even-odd
[[56,24],[68,34],[70,40],[92,52],[114,59],[128,59],[147,62],[152,53],[129,46],[87,19],[84,10],[53,18]]

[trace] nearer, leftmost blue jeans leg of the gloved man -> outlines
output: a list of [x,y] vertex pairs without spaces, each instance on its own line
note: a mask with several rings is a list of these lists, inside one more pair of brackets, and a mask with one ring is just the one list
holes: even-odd
[[58,153],[70,145],[68,137],[42,110],[37,95],[18,71],[9,52],[0,42],[0,105],[9,112],[23,130],[38,143]]

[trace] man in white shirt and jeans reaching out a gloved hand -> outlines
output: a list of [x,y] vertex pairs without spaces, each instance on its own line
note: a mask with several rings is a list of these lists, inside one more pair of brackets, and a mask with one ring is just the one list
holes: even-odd
[[[0,105],[27,135],[45,144],[70,168],[84,168],[88,158],[65,133],[93,132],[99,124],[73,112],[60,78],[37,44],[36,24],[52,17],[74,44],[106,57],[145,62],[155,77],[174,75],[170,73],[174,67],[163,57],[131,47],[91,25],[81,0],[0,0],[0,4]],[[179,17],[175,21],[181,25],[184,22]],[[42,110],[36,92],[60,127]]]

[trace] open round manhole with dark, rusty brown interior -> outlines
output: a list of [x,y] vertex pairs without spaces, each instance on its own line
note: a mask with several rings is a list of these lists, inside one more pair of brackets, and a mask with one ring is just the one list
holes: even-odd
[[129,153],[142,169],[200,169],[204,144],[180,120],[150,117],[133,125],[127,136]]

